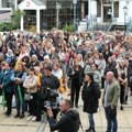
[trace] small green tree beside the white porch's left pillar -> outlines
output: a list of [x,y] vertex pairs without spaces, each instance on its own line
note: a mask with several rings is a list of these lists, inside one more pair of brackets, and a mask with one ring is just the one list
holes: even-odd
[[22,16],[22,15],[23,15],[23,16],[25,15],[25,12],[24,12],[24,11],[22,11],[22,10],[20,10],[20,9],[13,11],[12,22],[18,25],[18,29],[19,29],[19,26],[20,26],[20,20],[21,20],[21,16]]

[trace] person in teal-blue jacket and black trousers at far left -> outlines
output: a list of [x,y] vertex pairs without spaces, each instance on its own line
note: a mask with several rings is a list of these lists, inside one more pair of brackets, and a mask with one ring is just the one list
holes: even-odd
[[4,70],[0,73],[0,88],[4,92],[4,98],[7,101],[7,111],[6,116],[10,117],[12,112],[12,96],[13,96],[13,85],[11,81],[11,76],[13,75],[13,70],[9,63],[4,63]]

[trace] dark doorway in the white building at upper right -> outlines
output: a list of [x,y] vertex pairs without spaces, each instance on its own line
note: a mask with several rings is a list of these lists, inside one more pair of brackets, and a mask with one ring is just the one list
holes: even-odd
[[111,22],[111,7],[103,7],[103,22]]

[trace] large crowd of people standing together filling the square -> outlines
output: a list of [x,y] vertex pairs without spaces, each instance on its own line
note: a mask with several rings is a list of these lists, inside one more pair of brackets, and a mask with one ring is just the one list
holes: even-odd
[[[12,112],[14,97],[14,118],[23,119],[28,111],[26,120],[41,121],[44,106],[52,103],[57,96],[58,105],[67,89],[72,103],[65,100],[63,105],[66,102],[69,108],[79,107],[81,90],[84,112],[88,113],[90,125],[86,132],[96,132],[94,113],[99,108],[100,89],[105,89],[102,105],[108,121],[107,132],[111,132],[111,121],[113,132],[117,132],[118,99],[120,110],[124,110],[129,95],[132,96],[132,44],[122,32],[107,35],[101,31],[91,34],[56,30],[4,32],[0,35],[0,94],[7,117]],[[53,97],[47,94],[50,91]],[[114,111],[112,116],[110,109]],[[52,110],[52,118],[56,119],[58,107],[53,105]],[[51,117],[50,110],[47,113]]]

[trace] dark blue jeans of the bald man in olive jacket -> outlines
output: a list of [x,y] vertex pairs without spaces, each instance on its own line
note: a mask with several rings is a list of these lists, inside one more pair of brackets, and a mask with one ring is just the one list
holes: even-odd
[[113,116],[111,116],[110,110],[111,110],[110,107],[105,108],[107,119],[107,132],[118,132],[117,108],[114,108]]

